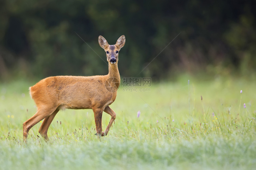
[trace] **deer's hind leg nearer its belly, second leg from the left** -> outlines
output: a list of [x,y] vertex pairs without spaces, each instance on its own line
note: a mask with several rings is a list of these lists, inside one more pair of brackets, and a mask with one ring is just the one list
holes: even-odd
[[56,109],[50,116],[47,116],[44,120],[42,125],[39,128],[39,134],[46,140],[49,141],[49,138],[47,136],[48,128],[54,119],[55,115],[59,112],[60,109]]

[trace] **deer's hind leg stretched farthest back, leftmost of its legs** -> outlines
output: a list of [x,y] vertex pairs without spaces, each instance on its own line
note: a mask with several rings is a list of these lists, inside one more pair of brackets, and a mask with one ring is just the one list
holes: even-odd
[[47,116],[50,116],[56,108],[49,108],[46,106],[38,107],[38,111],[36,114],[32,117],[30,117],[28,120],[26,120],[23,123],[23,140],[26,142],[29,130],[38,122],[46,118]]

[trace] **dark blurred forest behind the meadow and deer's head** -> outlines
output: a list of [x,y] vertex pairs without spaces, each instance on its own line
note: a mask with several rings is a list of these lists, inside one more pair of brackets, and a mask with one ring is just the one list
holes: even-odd
[[124,77],[248,75],[256,71],[255,7],[255,0],[2,0],[0,77],[107,74],[98,36],[115,44],[123,34]]

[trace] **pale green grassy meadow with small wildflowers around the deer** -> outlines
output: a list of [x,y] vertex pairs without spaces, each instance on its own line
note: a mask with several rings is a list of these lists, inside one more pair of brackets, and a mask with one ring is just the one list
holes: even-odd
[[[184,75],[152,82],[147,92],[120,87],[110,105],[115,124],[100,141],[92,110],[66,109],[54,118],[49,143],[38,123],[26,145],[22,123],[36,112],[28,93],[35,83],[0,84],[0,169],[256,168],[256,80]],[[109,120],[103,113],[103,130]]]

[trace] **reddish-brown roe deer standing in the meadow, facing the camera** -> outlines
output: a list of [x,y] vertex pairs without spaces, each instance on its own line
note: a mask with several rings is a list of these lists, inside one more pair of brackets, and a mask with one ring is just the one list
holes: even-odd
[[[98,138],[106,136],[115,120],[116,113],[109,107],[115,101],[120,85],[118,71],[119,50],[124,47],[125,36],[118,38],[115,45],[109,45],[103,36],[99,36],[99,45],[107,55],[108,74],[96,76],[54,76],[40,80],[29,88],[35,101],[37,112],[23,123],[23,140],[27,142],[29,130],[43,120],[39,134],[49,141],[48,128],[60,109],[92,109]],[[102,132],[102,113],[111,116],[107,128]]]

